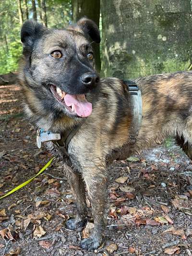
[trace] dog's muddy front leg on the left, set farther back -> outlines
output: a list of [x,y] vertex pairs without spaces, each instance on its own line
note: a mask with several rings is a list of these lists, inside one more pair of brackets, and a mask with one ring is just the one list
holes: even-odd
[[70,167],[65,168],[68,177],[68,182],[72,188],[73,195],[76,199],[77,215],[75,219],[69,219],[66,222],[66,227],[70,230],[75,230],[79,227],[84,227],[87,216],[87,206],[84,190],[84,181],[79,172],[73,171]]

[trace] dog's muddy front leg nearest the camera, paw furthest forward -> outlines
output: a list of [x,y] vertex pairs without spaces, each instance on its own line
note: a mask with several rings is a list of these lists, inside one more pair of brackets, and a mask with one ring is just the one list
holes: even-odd
[[102,244],[103,232],[106,228],[107,219],[105,217],[105,207],[107,203],[107,175],[105,171],[84,172],[88,196],[92,205],[92,216],[94,219],[94,232],[81,241],[81,247],[86,250],[94,250]]

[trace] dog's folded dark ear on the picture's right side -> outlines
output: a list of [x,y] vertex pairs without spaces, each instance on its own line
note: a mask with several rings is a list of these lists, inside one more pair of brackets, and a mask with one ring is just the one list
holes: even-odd
[[83,30],[85,35],[89,35],[89,37],[91,37],[91,39],[97,44],[100,43],[100,32],[94,21],[87,18],[81,18],[77,22],[77,25],[80,26],[81,30]]

